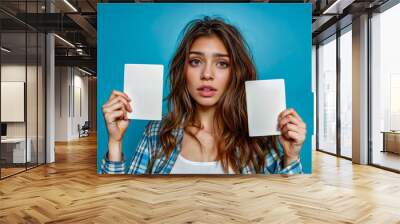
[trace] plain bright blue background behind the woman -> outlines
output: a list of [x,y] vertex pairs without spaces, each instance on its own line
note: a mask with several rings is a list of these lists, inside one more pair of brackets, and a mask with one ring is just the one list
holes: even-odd
[[[207,15],[219,16],[241,31],[254,57],[258,79],[285,79],[287,107],[295,108],[307,124],[301,161],[304,172],[311,173],[311,4],[150,3],[98,4],[97,8],[98,172],[108,139],[101,106],[113,89],[123,91],[124,64],[163,64],[166,97],[168,64],[181,31],[189,21]],[[166,105],[165,101],[163,113]],[[133,120],[125,133],[123,152],[128,163],[147,122]]]

